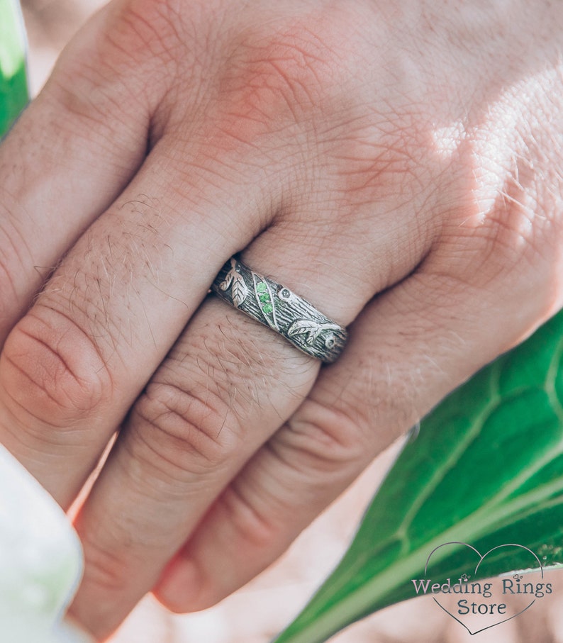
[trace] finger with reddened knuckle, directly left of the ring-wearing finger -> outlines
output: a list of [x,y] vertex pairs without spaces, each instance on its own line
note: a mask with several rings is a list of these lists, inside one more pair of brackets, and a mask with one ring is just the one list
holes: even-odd
[[269,212],[254,167],[221,184],[173,138],[74,245],[0,357],[0,438],[63,506]]

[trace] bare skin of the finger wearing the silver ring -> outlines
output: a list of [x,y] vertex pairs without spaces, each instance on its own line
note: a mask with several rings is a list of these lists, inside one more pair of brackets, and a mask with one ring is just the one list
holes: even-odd
[[[349,323],[386,285],[377,276],[386,271],[373,262],[375,274],[358,274],[362,262],[356,257],[351,266],[350,252],[329,255],[328,264],[327,243],[317,236],[306,245],[316,223],[291,220],[291,226],[274,222],[257,237],[245,261],[294,291],[313,284],[308,297],[324,300],[327,315]],[[370,225],[367,218],[358,222]],[[354,245],[355,232],[348,237]],[[334,230],[327,225],[320,234],[330,239]],[[367,243],[363,252],[371,254]],[[296,410],[317,372],[315,360],[269,328],[214,298],[204,303],[135,404],[79,514],[86,569],[74,617],[99,637],[123,620],[223,488]]]

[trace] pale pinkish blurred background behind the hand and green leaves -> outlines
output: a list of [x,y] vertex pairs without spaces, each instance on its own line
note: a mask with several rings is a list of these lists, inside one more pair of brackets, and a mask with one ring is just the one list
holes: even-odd
[[[24,0],[30,87],[43,86],[65,43],[103,4],[100,0]],[[268,643],[296,615],[345,551],[369,498],[392,462],[392,447],[259,578],[215,608],[172,615],[147,597],[112,643]],[[557,574],[547,580],[554,582]],[[542,607],[477,634],[478,643],[563,643],[563,583]],[[333,643],[472,643],[433,600],[417,598],[352,625]]]

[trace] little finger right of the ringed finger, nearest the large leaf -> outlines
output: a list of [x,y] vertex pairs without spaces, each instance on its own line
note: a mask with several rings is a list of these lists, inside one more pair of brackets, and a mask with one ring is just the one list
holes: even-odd
[[[537,311],[552,312],[550,284],[519,281],[522,257],[490,259],[489,269],[463,270],[460,281],[442,272],[443,261],[450,269],[455,264],[451,250],[437,253],[441,259],[429,261],[355,321],[340,360],[321,371],[307,400],[230,483],[167,566],[155,594],[168,608],[201,610],[260,573],[374,455],[528,335]],[[491,289],[476,288],[497,261],[497,268],[504,265]],[[535,313],[521,311],[520,301]]]

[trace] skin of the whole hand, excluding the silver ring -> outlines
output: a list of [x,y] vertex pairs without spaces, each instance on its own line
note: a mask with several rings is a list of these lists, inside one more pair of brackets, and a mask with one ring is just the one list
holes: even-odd
[[[563,305],[563,11],[113,0],[0,147],[0,440],[79,510],[72,615],[206,608]],[[235,252],[347,325],[208,296]]]

